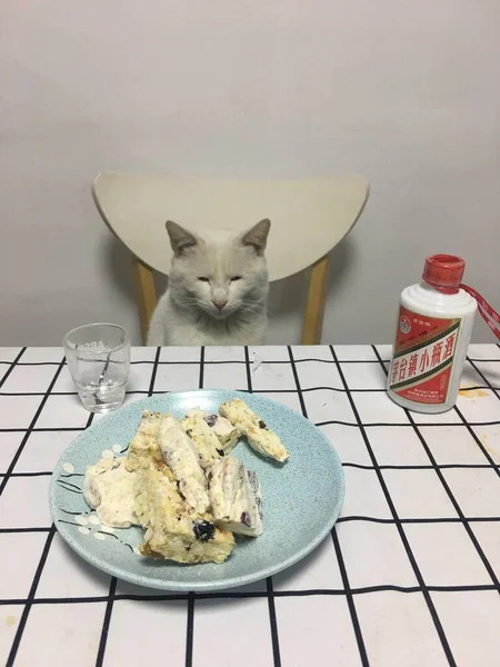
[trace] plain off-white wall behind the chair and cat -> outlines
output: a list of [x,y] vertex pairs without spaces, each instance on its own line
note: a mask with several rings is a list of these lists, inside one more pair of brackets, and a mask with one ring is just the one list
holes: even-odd
[[[499,307],[499,7],[4,0],[0,345],[101,319],[138,340],[128,256],[90,197],[108,169],[366,175],[326,341],[390,341],[400,289],[438,251]],[[276,287],[271,341],[298,340],[302,285]],[[491,340],[482,321],[474,336]]]

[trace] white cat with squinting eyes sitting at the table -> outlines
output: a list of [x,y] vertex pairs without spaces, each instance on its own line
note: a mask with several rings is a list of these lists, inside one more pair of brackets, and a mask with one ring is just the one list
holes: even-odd
[[167,222],[172,266],[169,287],[151,318],[148,345],[262,345],[270,226],[261,220],[237,236],[196,235]]

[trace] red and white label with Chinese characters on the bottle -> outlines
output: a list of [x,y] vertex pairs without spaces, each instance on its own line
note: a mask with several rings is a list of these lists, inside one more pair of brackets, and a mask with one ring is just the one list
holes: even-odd
[[447,402],[461,318],[428,317],[400,307],[394,352],[389,370],[391,390],[413,402]]

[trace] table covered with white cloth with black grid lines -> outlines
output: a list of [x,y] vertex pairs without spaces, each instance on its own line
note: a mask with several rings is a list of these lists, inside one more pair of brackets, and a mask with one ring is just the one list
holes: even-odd
[[132,347],[124,405],[258,392],[312,421],[346,477],[333,529],[298,564],[179,593],[111,577],[60,538],[51,472],[106,416],[81,405],[62,348],[0,348],[0,661],[498,666],[500,347],[470,346],[457,404],[437,415],[389,399],[390,356],[389,345]]

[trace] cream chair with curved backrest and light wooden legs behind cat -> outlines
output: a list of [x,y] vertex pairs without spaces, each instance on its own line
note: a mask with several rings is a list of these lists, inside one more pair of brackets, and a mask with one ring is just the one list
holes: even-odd
[[144,342],[157,305],[152,270],[168,275],[172,257],[166,221],[193,231],[237,230],[262,218],[271,220],[269,279],[311,268],[302,345],[320,342],[329,252],[358,220],[368,193],[358,176],[232,180],[104,172],[92,186],[102,219],[132,252]]

